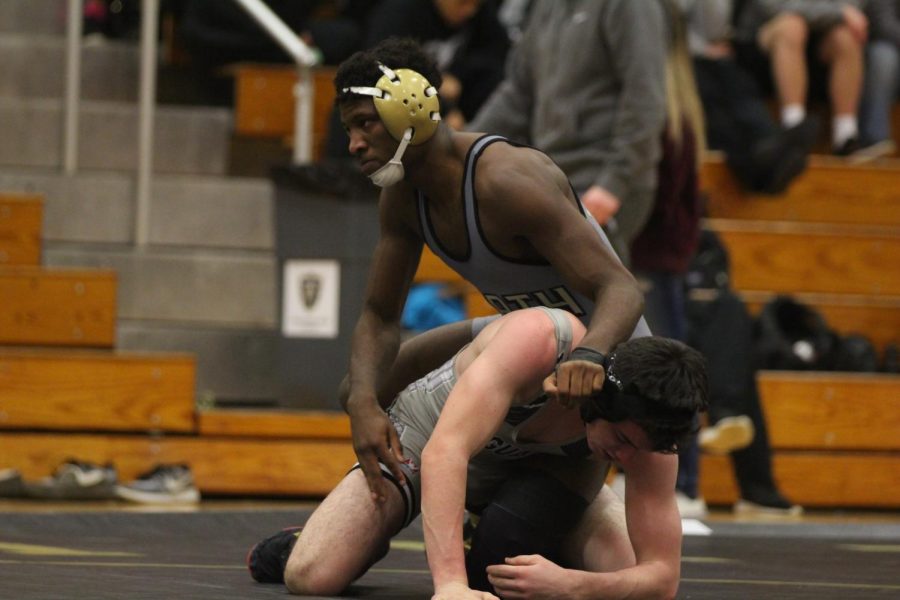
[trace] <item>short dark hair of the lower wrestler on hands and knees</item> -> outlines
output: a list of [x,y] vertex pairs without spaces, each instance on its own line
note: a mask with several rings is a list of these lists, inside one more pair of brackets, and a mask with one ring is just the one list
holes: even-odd
[[655,452],[674,453],[697,431],[709,407],[706,361],[673,339],[641,337],[616,347],[606,361],[603,389],[582,407],[585,421],[634,421]]

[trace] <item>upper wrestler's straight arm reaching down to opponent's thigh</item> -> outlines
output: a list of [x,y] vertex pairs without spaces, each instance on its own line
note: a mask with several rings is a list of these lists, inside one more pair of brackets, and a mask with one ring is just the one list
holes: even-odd
[[423,242],[404,218],[412,189],[401,184],[382,191],[379,202],[381,235],[369,269],[365,299],[350,349],[349,394],[353,449],[374,497],[385,497],[378,462],[403,480],[402,448],[397,432],[378,404],[376,391],[400,345],[400,316],[419,264]]

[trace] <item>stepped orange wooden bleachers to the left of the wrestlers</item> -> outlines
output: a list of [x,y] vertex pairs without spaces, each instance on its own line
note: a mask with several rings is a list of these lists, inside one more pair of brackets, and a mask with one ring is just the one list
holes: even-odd
[[115,273],[40,264],[43,198],[0,194],[0,468],[76,458],[128,481],[188,463],[203,493],[321,496],[353,463],[346,416],[199,411],[196,361],[115,349]]

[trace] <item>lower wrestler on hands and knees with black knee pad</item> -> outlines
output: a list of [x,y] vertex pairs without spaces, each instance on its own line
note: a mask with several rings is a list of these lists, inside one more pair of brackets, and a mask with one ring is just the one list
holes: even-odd
[[[604,361],[601,390],[573,410],[542,384],[584,335],[567,311],[515,311],[403,390],[388,412],[409,457],[405,483],[375,503],[362,474],[348,473],[283,557],[288,589],[340,594],[421,509],[435,600],[496,600],[472,584],[473,561],[502,597],[674,597],[674,453],[707,407],[703,359],[675,340],[629,340]],[[603,486],[613,462],[628,471],[624,504]],[[577,477],[585,467],[599,477]],[[468,556],[464,508],[481,514]]]

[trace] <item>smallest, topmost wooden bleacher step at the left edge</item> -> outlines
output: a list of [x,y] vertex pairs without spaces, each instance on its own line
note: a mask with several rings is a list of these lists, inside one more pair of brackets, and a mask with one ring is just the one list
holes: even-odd
[[42,196],[0,193],[0,266],[40,264],[43,214]]

